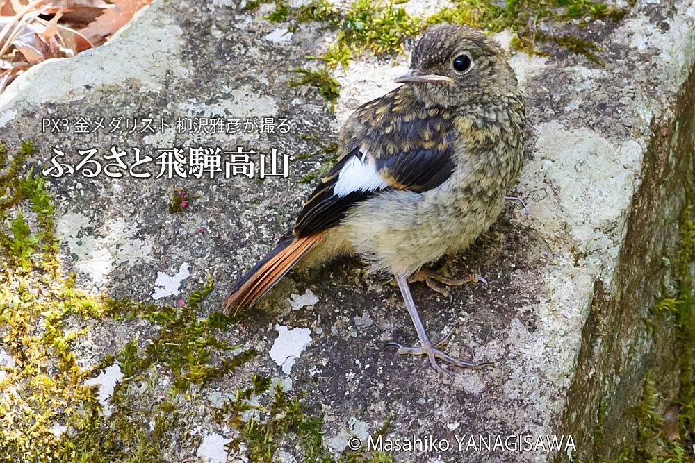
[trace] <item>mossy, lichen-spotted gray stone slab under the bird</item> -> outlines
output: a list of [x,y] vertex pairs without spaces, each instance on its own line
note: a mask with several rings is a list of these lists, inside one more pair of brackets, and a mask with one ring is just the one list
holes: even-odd
[[[272,23],[279,4],[154,1],[104,47],[32,67],[0,95],[3,459],[639,461],[685,451],[695,422],[692,1],[616,3],[619,21],[582,28],[584,18],[539,22],[596,44],[600,62],[553,41],[539,44],[551,56],[513,53],[528,117],[514,194],[529,213],[508,203],[471,249],[437,263],[459,278],[480,271],[489,285],[454,288],[451,302],[412,285],[432,338],[458,322],[448,353],[495,362],[448,366],[451,385],[422,358],[383,348],[416,334],[398,289],[356,258],[290,273],[231,319],[217,313],[292,225],[343,121],[398,85],[409,62],[412,40],[402,53],[356,54],[331,71],[342,87],[334,105],[325,89],[288,87],[289,69],[338,40],[327,20],[295,24],[298,6]],[[507,48],[515,38],[495,36]],[[179,117],[273,117],[288,131],[179,133]],[[45,118],[68,130],[42,131]],[[80,133],[81,118],[105,126]],[[161,149],[174,146],[240,146],[257,164],[277,149],[289,175],[158,176]],[[92,148],[102,167],[117,165],[112,147],[129,165],[136,149],[152,162],[120,178],[85,175],[89,162],[41,174],[56,150],[72,167]],[[573,448],[459,449],[509,435],[571,435]],[[439,448],[348,448],[379,436]]]

